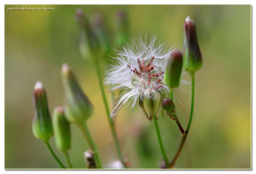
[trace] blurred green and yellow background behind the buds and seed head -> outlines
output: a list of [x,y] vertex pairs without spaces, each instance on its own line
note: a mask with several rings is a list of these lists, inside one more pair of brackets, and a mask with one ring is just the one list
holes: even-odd
[[[5,5],[7,7],[21,5]],[[28,5],[41,7],[42,5]],[[97,76],[92,62],[82,59],[78,48],[75,10],[89,17],[104,15],[109,38],[115,33],[115,13],[129,18],[129,37],[156,35],[182,48],[182,25],[189,15],[197,27],[203,67],[196,73],[195,107],[187,141],[175,169],[251,168],[251,5],[44,5],[54,10],[5,12],[5,168],[59,169],[43,141],[32,133],[32,91],[40,80],[48,95],[50,112],[63,105],[60,80],[63,63],[72,67],[92,101],[95,111],[88,120],[92,137],[104,165],[117,159]],[[113,43],[111,47],[116,45]],[[110,56],[115,56],[111,53]],[[105,59],[109,58],[106,55]],[[106,61],[101,62],[102,72]],[[184,101],[177,115],[186,128],[191,93],[174,90]],[[111,95],[108,93],[109,103]],[[112,105],[110,105],[112,107]],[[131,168],[157,168],[162,159],[153,122],[137,107],[123,107],[116,130],[124,158]],[[181,140],[176,123],[159,117],[164,147],[171,160]],[[69,150],[74,168],[85,168],[83,153],[88,145],[71,126]],[[64,156],[50,139],[53,150]]]

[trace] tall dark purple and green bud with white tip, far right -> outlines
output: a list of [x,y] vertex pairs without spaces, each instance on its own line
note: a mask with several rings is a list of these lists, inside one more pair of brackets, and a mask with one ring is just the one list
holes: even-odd
[[202,67],[202,57],[197,42],[196,26],[186,18],[183,24],[183,62],[184,68],[189,72],[196,72]]

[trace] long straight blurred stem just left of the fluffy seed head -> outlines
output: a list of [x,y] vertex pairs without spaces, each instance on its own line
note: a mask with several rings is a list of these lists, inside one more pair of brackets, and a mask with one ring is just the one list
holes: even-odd
[[107,101],[105,91],[104,91],[104,88],[103,88],[103,83],[102,83],[102,78],[101,78],[101,73],[100,73],[100,64],[99,64],[98,60],[95,60],[95,67],[96,67],[96,71],[97,71],[98,80],[99,80],[99,83],[100,83],[100,91],[101,91],[101,94],[102,94],[102,98],[103,98],[105,109],[106,109],[107,116],[108,116],[108,123],[109,123],[109,126],[110,126],[110,130],[111,130],[111,133],[112,133],[114,144],[116,146],[116,152],[117,152],[119,160],[125,166],[124,158],[123,158],[121,148],[120,148],[120,145],[119,145],[119,142],[118,142],[118,139],[117,139],[117,135],[116,135],[115,122],[110,117],[110,112],[109,112],[109,108],[108,108],[108,101]]

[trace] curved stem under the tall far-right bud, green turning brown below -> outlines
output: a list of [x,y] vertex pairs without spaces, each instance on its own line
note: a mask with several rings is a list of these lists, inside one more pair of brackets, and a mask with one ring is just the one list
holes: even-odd
[[181,143],[180,143],[180,147],[179,147],[178,151],[176,152],[175,156],[173,157],[172,162],[170,163],[171,168],[174,166],[177,158],[180,155],[180,152],[181,152],[182,147],[185,143],[185,140],[188,136],[188,131],[189,131],[189,128],[190,128],[190,125],[191,125],[191,122],[192,122],[192,115],[193,115],[193,110],[194,110],[194,94],[195,94],[195,73],[193,73],[193,72],[190,73],[190,76],[191,76],[191,79],[192,79],[192,97],[191,97],[191,108],[190,108],[190,115],[189,115],[189,120],[188,120],[188,127],[187,127],[186,132],[183,134],[183,137],[182,137],[182,140],[181,140]]

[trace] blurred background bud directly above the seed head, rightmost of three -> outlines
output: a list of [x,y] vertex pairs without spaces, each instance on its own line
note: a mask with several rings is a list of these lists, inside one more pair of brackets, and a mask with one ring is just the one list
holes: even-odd
[[128,40],[128,17],[125,11],[116,13],[116,44],[121,45]]

